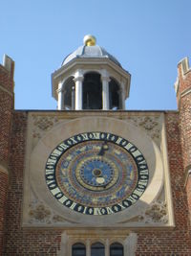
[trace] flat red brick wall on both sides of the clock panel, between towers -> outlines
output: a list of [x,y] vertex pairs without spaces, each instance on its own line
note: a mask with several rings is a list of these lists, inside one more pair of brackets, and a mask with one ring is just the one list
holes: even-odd
[[[165,120],[176,227],[136,231],[138,232],[137,255],[191,255],[190,224],[180,147],[179,113],[168,112]],[[21,225],[26,126],[27,112],[15,112],[11,136],[11,187],[3,255],[53,256],[59,249],[63,230],[30,229],[23,228]]]

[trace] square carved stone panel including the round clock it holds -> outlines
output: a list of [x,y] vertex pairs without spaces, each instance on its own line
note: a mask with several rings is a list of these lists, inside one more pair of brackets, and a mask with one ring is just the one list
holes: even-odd
[[[53,112],[53,121],[44,127],[43,112],[30,114],[23,224],[173,226],[163,116],[77,115]],[[158,136],[148,122],[143,127],[135,123],[135,117],[137,123],[138,118],[155,120]],[[155,207],[161,209],[158,219]]]

